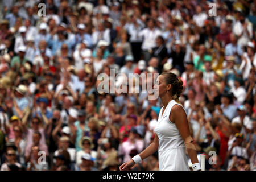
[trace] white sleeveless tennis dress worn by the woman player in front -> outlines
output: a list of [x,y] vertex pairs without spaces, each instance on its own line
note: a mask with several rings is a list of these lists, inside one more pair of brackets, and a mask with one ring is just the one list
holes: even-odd
[[[189,171],[185,144],[175,123],[169,119],[172,106],[177,103],[171,100],[164,110],[160,110],[158,123],[154,129],[159,138],[158,158],[160,171]],[[182,105],[181,105],[182,106]]]

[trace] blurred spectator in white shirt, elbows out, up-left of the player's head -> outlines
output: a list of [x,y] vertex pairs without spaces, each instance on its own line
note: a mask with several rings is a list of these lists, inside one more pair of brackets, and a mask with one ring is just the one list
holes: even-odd
[[147,28],[144,28],[139,32],[139,36],[143,38],[142,51],[144,60],[148,61],[151,58],[151,51],[156,47],[155,39],[160,36],[162,32],[155,27],[155,20],[148,19]]

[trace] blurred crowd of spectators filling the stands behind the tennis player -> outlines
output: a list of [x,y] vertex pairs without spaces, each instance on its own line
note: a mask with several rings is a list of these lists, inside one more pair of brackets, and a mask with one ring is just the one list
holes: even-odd
[[[175,73],[205,169],[256,169],[256,1],[0,3],[2,171],[118,170],[146,148],[162,103],[98,92],[113,69]],[[133,170],[159,170],[158,152]]]

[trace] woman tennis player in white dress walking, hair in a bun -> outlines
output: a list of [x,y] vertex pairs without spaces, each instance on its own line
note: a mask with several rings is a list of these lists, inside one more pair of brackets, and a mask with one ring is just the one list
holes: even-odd
[[174,73],[164,72],[156,80],[154,90],[159,93],[163,107],[154,129],[155,139],[145,150],[123,163],[119,169],[129,170],[134,164],[154,154],[158,150],[160,171],[189,171],[185,153],[187,148],[193,171],[201,169],[196,148],[192,143],[188,119],[179,97],[183,90],[183,81]]

